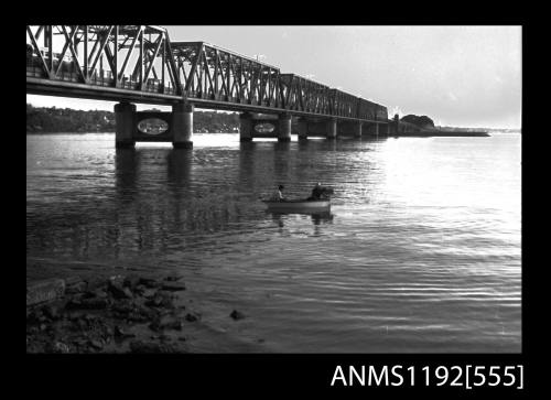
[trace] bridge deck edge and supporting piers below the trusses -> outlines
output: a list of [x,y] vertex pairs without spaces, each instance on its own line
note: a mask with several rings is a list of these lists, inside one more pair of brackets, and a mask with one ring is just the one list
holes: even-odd
[[[116,145],[133,147],[136,142],[172,142],[175,148],[193,148],[193,111],[195,108],[237,111],[240,113],[240,141],[253,138],[277,138],[290,141],[292,117],[298,120],[300,140],[309,137],[335,139],[337,136],[387,136],[388,121],[365,120],[342,116],[328,116],[299,110],[289,110],[245,101],[186,98],[181,96],[131,90],[117,87],[101,87],[75,82],[52,82],[42,78],[26,78],[26,93],[45,96],[85,98],[94,100],[118,101],[115,106]],[[136,102],[172,106],[172,112],[136,111]],[[145,118],[147,117],[147,118]],[[144,133],[138,127],[140,122],[152,118],[161,119],[168,129],[160,133]]]

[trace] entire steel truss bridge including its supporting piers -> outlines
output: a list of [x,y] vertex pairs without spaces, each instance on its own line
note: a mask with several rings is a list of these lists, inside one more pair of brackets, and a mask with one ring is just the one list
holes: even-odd
[[[379,136],[399,125],[385,106],[205,42],[171,42],[153,25],[28,25],[26,91],[118,101],[117,147],[192,148],[195,108],[240,112],[241,141]],[[172,112],[137,112],[136,102]]]

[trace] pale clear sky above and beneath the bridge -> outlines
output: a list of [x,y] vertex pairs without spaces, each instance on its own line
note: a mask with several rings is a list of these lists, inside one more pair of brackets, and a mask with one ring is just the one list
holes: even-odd
[[[165,26],[436,126],[521,128],[521,26]],[[36,107],[112,101],[26,96]],[[163,109],[163,107],[155,106]],[[138,105],[138,109],[151,108]]]

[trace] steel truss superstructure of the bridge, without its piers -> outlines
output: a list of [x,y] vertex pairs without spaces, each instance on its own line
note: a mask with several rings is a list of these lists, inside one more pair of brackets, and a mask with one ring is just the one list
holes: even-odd
[[26,25],[29,94],[331,118],[385,128],[387,108],[153,25]]

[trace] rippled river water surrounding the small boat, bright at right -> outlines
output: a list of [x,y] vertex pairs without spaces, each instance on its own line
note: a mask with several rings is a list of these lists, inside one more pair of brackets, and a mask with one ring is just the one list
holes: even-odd
[[[28,281],[182,274],[205,324],[267,352],[521,350],[520,134],[294,140],[28,134]],[[317,181],[329,214],[259,201]]]

